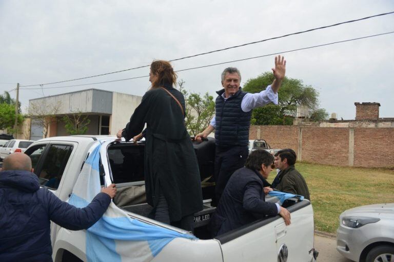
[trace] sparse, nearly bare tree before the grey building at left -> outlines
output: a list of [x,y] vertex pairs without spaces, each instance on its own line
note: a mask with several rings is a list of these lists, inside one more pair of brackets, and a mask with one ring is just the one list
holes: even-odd
[[45,104],[38,102],[29,103],[27,108],[28,115],[32,119],[32,123],[43,128],[44,138],[48,136],[49,126],[52,122],[57,122],[56,115],[60,111],[62,102],[58,101],[55,104]]

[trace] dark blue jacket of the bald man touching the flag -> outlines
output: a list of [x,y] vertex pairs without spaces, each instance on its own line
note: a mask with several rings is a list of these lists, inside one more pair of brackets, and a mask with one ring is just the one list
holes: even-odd
[[29,171],[0,172],[0,261],[52,261],[50,220],[70,230],[91,227],[111,198],[99,193],[85,208],[76,208],[40,188]]

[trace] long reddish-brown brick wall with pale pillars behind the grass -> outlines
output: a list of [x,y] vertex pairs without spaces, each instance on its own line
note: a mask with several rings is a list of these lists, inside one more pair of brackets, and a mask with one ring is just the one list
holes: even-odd
[[[354,137],[351,130],[354,130]],[[249,139],[259,138],[265,139],[273,148],[292,148],[302,161],[311,163],[339,166],[353,163],[353,166],[362,167],[394,166],[394,128],[251,126]],[[352,142],[353,139],[354,145],[350,143],[352,150],[349,152],[349,140]]]

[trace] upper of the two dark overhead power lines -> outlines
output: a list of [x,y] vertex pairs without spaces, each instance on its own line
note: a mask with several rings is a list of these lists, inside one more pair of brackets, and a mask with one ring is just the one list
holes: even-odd
[[[222,49],[213,50],[213,51],[200,53],[200,54],[196,54],[196,55],[185,56],[185,57],[181,57],[181,58],[172,59],[172,60],[169,60],[169,61],[171,61],[171,62],[172,61],[178,61],[178,60],[182,60],[182,59],[187,59],[187,58],[201,56],[201,55],[206,55],[206,54],[211,54],[211,53],[220,52],[220,51],[224,51],[224,50],[229,50],[229,49],[233,49],[233,48],[244,47],[244,46],[248,46],[248,45],[253,45],[254,43],[260,43],[260,42],[265,42],[265,41],[268,41],[268,40],[273,40],[273,39],[279,39],[279,38],[287,37],[287,36],[290,36],[290,35],[297,35],[297,34],[302,34],[302,33],[306,33],[306,32],[311,32],[311,31],[314,31],[314,30],[325,29],[325,28],[329,28],[329,27],[335,27],[335,26],[339,26],[339,25],[343,25],[343,24],[353,23],[353,22],[356,22],[356,21],[361,21],[361,20],[365,20],[365,19],[369,19],[369,18],[373,18],[373,17],[378,17],[378,16],[383,16],[383,15],[388,15],[388,14],[392,14],[392,13],[394,13],[394,11],[388,12],[388,13],[377,14],[377,15],[371,15],[371,16],[367,16],[367,17],[363,17],[363,18],[359,18],[359,19],[344,21],[344,22],[333,24],[333,25],[330,25],[330,26],[323,26],[323,27],[318,27],[318,28],[312,28],[312,29],[308,29],[308,30],[305,30],[305,31],[290,33],[290,34],[286,34],[286,35],[282,35],[282,36],[275,36],[275,37],[271,37],[271,38],[267,38],[267,39],[263,39],[263,40],[259,40],[259,41],[254,41],[254,42],[243,43],[242,45],[238,45],[238,46],[232,46],[232,47],[222,48]],[[29,86],[64,83],[64,82],[82,80],[82,79],[87,79],[87,78],[92,78],[92,77],[98,77],[98,76],[105,76],[105,75],[110,75],[110,74],[115,74],[115,73],[121,73],[121,72],[125,72],[125,71],[130,71],[130,70],[135,70],[135,69],[140,69],[140,68],[146,68],[146,67],[149,67],[149,66],[150,66],[150,64],[148,64],[148,65],[141,65],[140,67],[134,67],[134,68],[124,69],[124,70],[104,73],[104,74],[100,74],[100,75],[86,76],[86,77],[81,77],[81,78],[74,78],[74,79],[57,81],[57,82],[50,82],[50,83],[44,83],[44,84],[21,85],[21,87],[25,87],[26,88],[26,87],[29,87]]]

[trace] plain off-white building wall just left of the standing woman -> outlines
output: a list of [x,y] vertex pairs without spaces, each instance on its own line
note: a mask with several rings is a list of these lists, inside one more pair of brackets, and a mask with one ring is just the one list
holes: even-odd
[[116,135],[119,129],[126,126],[141,100],[141,96],[115,92],[112,94],[112,116],[109,120],[109,132],[111,135]]

